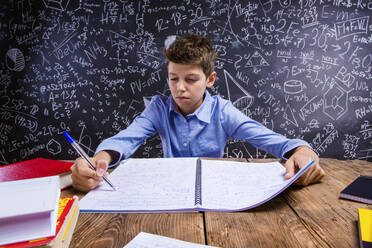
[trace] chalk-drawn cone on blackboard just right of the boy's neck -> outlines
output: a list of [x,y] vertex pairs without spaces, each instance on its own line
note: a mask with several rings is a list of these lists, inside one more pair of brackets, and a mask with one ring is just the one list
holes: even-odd
[[[223,71],[223,74],[225,76],[228,99],[240,110],[249,108],[254,101],[254,97],[249,94],[248,91],[246,91],[226,70]],[[230,94],[230,91],[241,92],[243,93],[243,96],[241,96],[242,94],[239,94],[239,97],[235,97]]]

